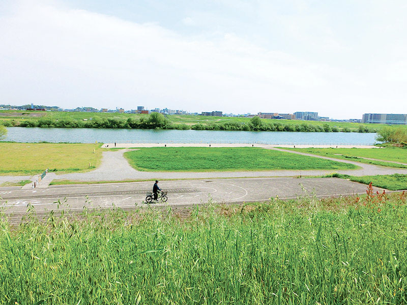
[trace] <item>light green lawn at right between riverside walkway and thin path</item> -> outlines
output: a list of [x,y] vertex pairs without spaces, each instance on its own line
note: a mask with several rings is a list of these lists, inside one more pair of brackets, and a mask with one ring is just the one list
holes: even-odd
[[332,158],[371,158],[383,161],[394,161],[407,164],[407,148],[288,148],[289,150],[301,151]]

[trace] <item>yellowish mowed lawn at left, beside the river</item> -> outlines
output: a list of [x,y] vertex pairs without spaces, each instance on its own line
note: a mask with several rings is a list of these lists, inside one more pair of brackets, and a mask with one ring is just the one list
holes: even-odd
[[100,144],[0,142],[0,175],[40,174],[47,168],[86,171],[97,167],[101,157]]

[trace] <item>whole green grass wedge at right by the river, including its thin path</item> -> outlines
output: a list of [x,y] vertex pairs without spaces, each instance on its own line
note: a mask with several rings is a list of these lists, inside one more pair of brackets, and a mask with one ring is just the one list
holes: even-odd
[[[300,151],[301,153],[309,153],[318,156],[350,160],[367,164],[407,168],[407,148],[403,147],[386,147],[386,148],[283,148],[287,150]],[[377,160],[368,160],[371,158]],[[380,161],[383,160],[383,161]],[[397,164],[394,161],[405,163]]]

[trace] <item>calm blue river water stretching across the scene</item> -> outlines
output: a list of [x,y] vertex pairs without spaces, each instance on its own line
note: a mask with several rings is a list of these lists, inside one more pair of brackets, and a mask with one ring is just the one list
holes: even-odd
[[265,142],[270,144],[372,144],[375,133],[144,130],[8,127],[6,141],[15,142]]

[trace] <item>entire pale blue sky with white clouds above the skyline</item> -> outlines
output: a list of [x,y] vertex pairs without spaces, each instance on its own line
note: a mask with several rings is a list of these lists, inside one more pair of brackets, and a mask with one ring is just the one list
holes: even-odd
[[405,0],[1,0],[0,104],[407,113]]

